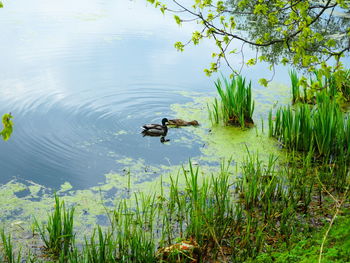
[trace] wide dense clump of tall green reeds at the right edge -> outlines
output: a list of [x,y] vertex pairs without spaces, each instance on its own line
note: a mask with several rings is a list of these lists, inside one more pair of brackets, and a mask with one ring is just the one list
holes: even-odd
[[349,156],[349,117],[325,93],[317,95],[317,106],[281,107],[275,121],[269,114],[269,135],[290,150],[308,152],[326,159]]

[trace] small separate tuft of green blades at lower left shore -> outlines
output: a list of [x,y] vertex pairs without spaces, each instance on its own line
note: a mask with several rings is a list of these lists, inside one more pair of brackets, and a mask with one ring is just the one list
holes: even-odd
[[46,249],[55,256],[68,255],[74,242],[74,207],[66,209],[64,202],[55,194],[55,207],[49,215],[47,224],[40,226],[35,219],[34,224],[39,231]]

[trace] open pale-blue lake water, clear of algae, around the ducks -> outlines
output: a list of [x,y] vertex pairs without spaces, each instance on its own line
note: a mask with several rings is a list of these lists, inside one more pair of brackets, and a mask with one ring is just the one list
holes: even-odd
[[[173,47],[193,26],[179,28],[145,0],[4,5],[0,114],[11,112],[15,127],[8,142],[0,140],[0,183],[83,189],[123,169],[118,159],[176,165],[201,154],[202,143],[186,129],[169,133],[178,143],[140,135],[144,123],[173,116],[170,105],[191,101],[182,92],[215,91],[203,73],[212,43],[183,53]],[[275,80],[287,84],[281,72]],[[263,65],[245,71],[254,83],[264,73]]]

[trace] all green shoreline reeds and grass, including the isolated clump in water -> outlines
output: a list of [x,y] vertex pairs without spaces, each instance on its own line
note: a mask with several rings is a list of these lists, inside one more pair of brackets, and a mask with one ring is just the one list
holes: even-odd
[[[291,73],[293,89],[296,79]],[[208,105],[212,123],[247,127],[251,84],[224,85],[216,82],[221,100]],[[74,207],[55,195],[47,221],[34,222],[41,253],[2,230],[0,262],[349,262],[350,118],[339,92],[327,91],[310,96],[314,103],[293,95],[293,106],[270,112],[269,137],[287,149],[285,161],[271,154],[263,162],[247,148],[240,172],[229,159],[205,176],[189,162],[159,193],[106,208],[108,226],[82,243]]]

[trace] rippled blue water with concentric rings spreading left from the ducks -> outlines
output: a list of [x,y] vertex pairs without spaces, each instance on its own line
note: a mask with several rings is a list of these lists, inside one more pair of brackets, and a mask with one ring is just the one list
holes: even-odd
[[149,164],[168,164],[170,159],[177,164],[198,155],[198,148],[170,147],[159,138],[140,134],[142,124],[159,123],[171,115],[172,103],[186,101],[179,88],[135,83],[98,92],[42,89],[7,96],[6,107],[12,110],[16,125],[11,140],[1,143],[3,182],[15,176],[40,178],[41,184],[52,187],[65,181],[87,187],[103,181],[105,173],[121,170],[117,159],[131,157]]

